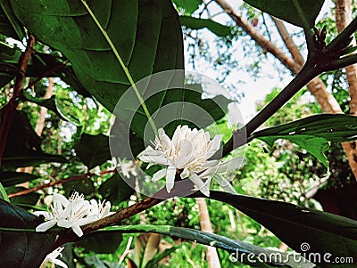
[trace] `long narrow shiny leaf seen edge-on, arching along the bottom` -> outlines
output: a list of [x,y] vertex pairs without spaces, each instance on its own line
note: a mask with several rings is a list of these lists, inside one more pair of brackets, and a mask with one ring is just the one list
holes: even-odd
[[[278,252],[270,250],[267,248],[259,248],[257,246],[237,241],[231,240],[227,237],[220,236],[218,234],[209,233],[205,231],[192,230],[188,228],[181,227],[172,227],[169,225],[149,225],[149,224],[140,224],[140,225],[130,225],[130,226],[114,226],[107,227],[105,231],[122,231],[126,233],[131,232],[156,232],[164,235],[170,235],[173,237],[182,238],[185,240],[195,241],[203,245],[212,246],[215,248],[221,248],[227,250],[230,253],[239,254],[244,253],[244,256],[241,257],[241,260],[245,264],[250,264],[256,267],[272,267],[271,265],[287,265],[289,267],[313,267],[314,265],[309,262],[296,263],[293,256],[283,252]],[[250,260],[247,259],[247,256],[250,254]],[[279,263],[278,260],[271,260],[272,263],[264,264],[257,257],[259,254],[264,256],[271,256],[273,254],[281,254],[282,259],[286,262]]]

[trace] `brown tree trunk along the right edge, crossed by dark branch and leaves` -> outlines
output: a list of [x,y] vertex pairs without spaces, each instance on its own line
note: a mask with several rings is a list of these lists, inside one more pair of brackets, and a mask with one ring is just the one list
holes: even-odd
[[[352,21],[352,0],[336,0],[336,28],[341,32]],[[356,40],[353,36],[353,45],[356,45]],[[353,64],[346,68],[346,77],[350,92],[350,114],[357,116],[357,65]],[[353,175],[357,180],[357,144],[354,142],[345,142],[344,149],[349,149],[346,152],[348,162],[351,166]]]

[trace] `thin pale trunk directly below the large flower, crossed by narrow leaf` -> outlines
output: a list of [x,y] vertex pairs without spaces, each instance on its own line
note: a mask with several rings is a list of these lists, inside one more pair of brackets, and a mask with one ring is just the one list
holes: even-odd
[[[208,214],[207,203],[205,199],[196,199],[198,205],[198,212],[200,215],[201,230],[207,232],[212,231],[212,224],[210,220],[210,215]],[[217,249],[206,246],[207,262],[209,268],[220,268],[220,258],[217,254]]]

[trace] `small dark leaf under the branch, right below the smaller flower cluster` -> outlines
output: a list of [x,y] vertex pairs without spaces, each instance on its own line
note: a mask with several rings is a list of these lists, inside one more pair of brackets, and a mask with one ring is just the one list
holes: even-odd
[[75,247],[84,248],[87,252],[96,254],[114,254],[122,241],[122,234],[112,231],[94,232],[74,244]]

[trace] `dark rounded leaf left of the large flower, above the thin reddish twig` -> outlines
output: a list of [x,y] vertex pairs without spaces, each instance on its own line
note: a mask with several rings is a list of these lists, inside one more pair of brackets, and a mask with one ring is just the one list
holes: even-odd
[[109,150],[109,137],[104,134],[82,134],[74,149],[88,169],[99,166],[112,158]]

